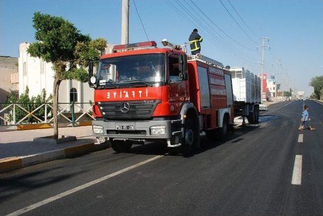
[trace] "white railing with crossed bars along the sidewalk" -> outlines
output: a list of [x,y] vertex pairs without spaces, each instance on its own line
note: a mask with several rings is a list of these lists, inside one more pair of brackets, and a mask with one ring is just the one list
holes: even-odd
[[[0,103],[0,109],[0,125],[48,124],[54,119],[52,103]],[[81,121],[95,120],[92,103],[59,103],[57,116],[59,123],[67,122],[72,127]]]

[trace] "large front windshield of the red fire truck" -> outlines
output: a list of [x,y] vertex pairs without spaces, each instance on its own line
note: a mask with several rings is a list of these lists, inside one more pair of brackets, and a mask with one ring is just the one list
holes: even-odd
[[[99,86],[153,84],[165,81],[165,54],[131,55],[99,61]],[[133,81],[133,82],[132,82]]]

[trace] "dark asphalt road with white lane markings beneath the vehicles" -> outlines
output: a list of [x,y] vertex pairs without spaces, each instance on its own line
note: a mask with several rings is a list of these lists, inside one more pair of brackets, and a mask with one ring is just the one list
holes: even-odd
[[305,103],[315,131],[281,102],[189,158],[151,143],[2,174],[0,215],[322,215],[323,105]]

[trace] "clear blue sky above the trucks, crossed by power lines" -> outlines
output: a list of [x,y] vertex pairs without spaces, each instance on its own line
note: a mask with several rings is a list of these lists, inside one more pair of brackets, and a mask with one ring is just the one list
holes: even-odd
[[[225,65],[247,66],[254,74],[259,74],[261,50],[257,51],[256,46],[261,44],[261,40],[243,24],[228,0],[221,1],[252,40],[239,28],[219,0],[192,1],[213,23],[243,46],[214,27],[195,8],[191,0],[178,0],[179,4],[177,0],[135,0],[149,39],[158,42],[167,38],[169,41],[182,44],[187,41],[195,27],[204,37],[201,44],[202,54]],[[289,86],[309,94],[310,78],[323,75],[322,1],[231,0],[230,2],[258,36],[270,38],[270,44],[266,42],[266,45],[271,45],[272,52],[268,49],[265,51],[265,73],[274,74],[274,55],[280,57],[282,66],[278,67],[279,83],[282,82],[284,74]],[[62,16],[73,22],[82,33],[90,34],[92,38],[104,37],[109,43],[120,43],[121,0],[30,0],[24,3],[25,1],[18,0],[2,0],[0,3],[1,55],[18,56],[19,43],[34,41],[32,16],[35,11]],[[198,13],[194,13],[191,7]],[[183,8],[186,8],[189,14]],[[147,40],[133,0],[130,0],[129,38],[130,42]],[[160,43],[158,46],[161,46]]]

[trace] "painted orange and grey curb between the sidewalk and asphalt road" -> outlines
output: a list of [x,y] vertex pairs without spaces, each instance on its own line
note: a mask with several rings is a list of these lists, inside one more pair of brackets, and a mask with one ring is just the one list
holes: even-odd
[[90,142],[82,145],[67,147],[64,149],[58,149],[49,152],[43,152],[35,155],[8,158],[0,160],[0,173],[17,170],[23,167],[41,164],[48,161],[73,158],[76,156],[85,155],[87,153],[104,150],[109,147],[110,143],[108,142],[102,143],[100,145],[94,145],[94,142]]

